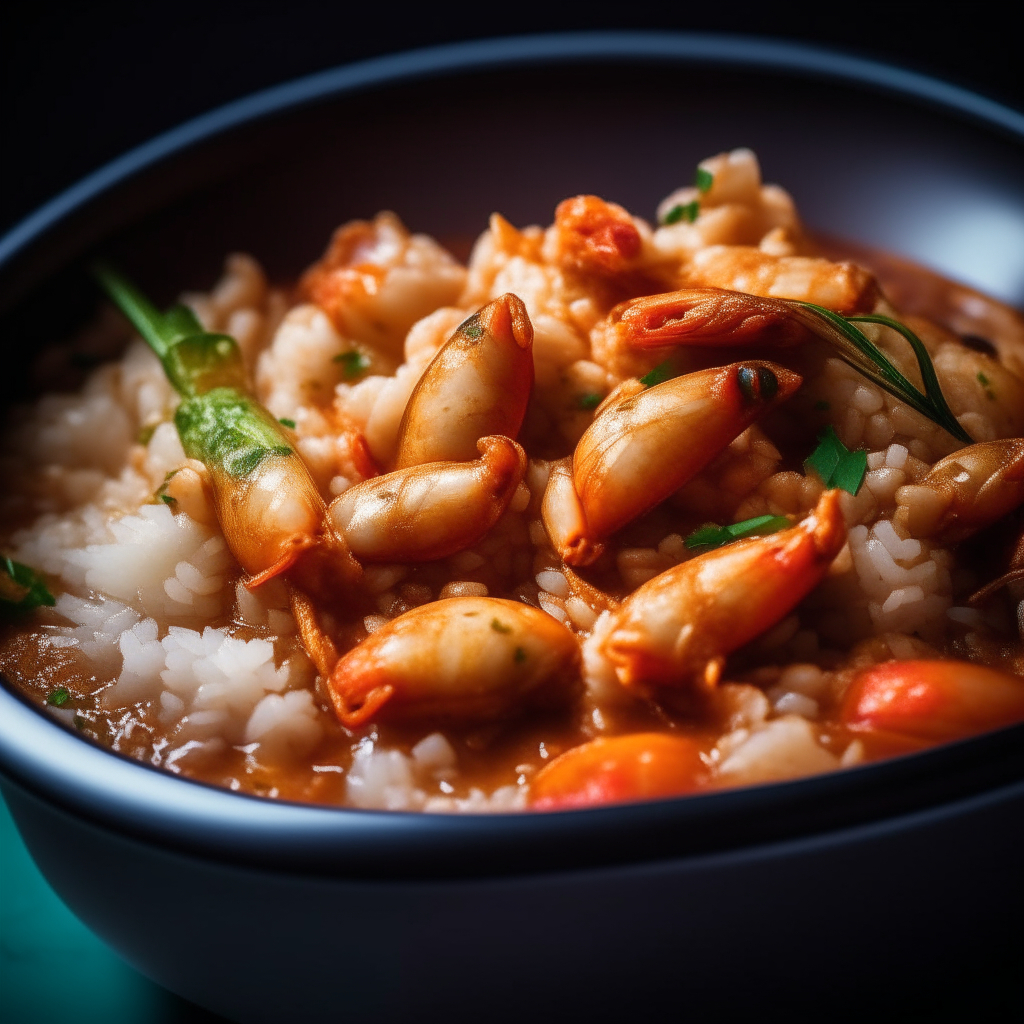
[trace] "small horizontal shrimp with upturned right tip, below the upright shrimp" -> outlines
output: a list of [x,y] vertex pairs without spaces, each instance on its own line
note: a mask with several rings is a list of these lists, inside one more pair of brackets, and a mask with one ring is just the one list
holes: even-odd
[[434,462],[349,487],[331,504],[334,528],[364,561],[444,558],[475,544],[508,508],[526,454],[507,437],[482,437],[473,462]]

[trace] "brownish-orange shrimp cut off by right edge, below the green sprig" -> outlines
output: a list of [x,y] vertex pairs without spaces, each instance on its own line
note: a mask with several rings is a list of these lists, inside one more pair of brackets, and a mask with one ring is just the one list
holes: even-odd
[[1024,438],[961,449],[900,487],[896,502],[893,518],[912,537],[957,544],[1024,502]]

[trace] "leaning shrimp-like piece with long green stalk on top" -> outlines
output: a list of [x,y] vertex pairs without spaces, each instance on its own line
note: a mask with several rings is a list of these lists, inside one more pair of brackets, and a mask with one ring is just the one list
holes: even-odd
[[186,306],[160,312],[123,274],[95,274],[142,335],[181,395],[181,446],[210,474],[224,540],[250,588],[288,572],[301,589],[332,596],[358,563],[332,528],[309,470],[278,421],[250,393],[233,338],[203,329]]

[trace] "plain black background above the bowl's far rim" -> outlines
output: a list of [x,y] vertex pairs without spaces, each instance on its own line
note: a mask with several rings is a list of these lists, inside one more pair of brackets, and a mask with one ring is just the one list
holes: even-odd
[[[301,75],[435,43],[582,29],[737,32],[823,43],[1024,109],[1020,41],[989,2],[246,5],[39,0],[0,14],[0,231],[123,151]],[[880,154],[884,159],[884,154]]]

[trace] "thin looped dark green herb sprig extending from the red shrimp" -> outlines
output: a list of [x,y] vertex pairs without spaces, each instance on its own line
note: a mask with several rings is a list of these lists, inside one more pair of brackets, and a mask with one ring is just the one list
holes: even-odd
[[[844,361],[858,370],[869,381],[900,401],[906,402],[933,423],[937,423],[957,440],[964,441],[965,444],[974,443],[974,439],[959,425],[952,410],[946,404],[928,349],[905,324],[880,313],[843,316],[813,302],[788,300],[786,304],[819,338],[828,341]],[[910,343],[921,369],[921,379],[925,384],[924,393],[893,366],[889,356],[857,328],[856,324],[879,324],[902,335]]]

